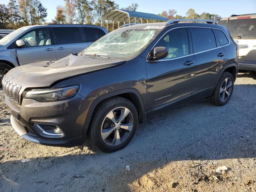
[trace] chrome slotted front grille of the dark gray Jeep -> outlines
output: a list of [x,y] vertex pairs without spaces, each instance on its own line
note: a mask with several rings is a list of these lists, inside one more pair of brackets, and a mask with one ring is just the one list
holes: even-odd
[[2,80],[2,86],[4,93],[15,102],[19,102],[19,92],[21,89],[21,86],[18,86],[14,84],[10,79],[4,76]]

